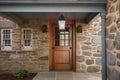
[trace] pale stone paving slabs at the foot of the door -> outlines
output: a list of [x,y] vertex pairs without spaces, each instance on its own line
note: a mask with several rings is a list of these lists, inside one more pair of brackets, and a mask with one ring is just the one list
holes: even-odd
[[39,72],[33,80],[102,80],[101,73]]

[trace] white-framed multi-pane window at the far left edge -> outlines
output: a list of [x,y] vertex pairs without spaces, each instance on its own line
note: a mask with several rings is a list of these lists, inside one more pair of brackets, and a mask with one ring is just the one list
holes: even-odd
[[1,50],[12,50],[12,29],[1,29]]

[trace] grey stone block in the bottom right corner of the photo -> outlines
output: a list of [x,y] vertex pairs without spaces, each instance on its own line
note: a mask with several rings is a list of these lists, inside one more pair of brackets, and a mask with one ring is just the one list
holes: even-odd
[[113,68],[111,80],[120,80],[120,67]]

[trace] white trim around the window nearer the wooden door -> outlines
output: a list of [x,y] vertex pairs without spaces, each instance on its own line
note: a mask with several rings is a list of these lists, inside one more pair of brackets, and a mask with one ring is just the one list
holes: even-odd
[[[31,46],[25,46],[24,44],[24,30],[31,30]],[[22,50],[23,51],[33,51],[33,29],[23,28],[22,29]]]

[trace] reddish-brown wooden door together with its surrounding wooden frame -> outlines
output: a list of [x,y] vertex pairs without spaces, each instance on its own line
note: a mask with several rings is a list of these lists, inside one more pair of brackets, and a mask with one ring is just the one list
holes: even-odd
[[59,30],[57,20],[49,21],[49,70],[76,71],[76,35],[73,20]]

